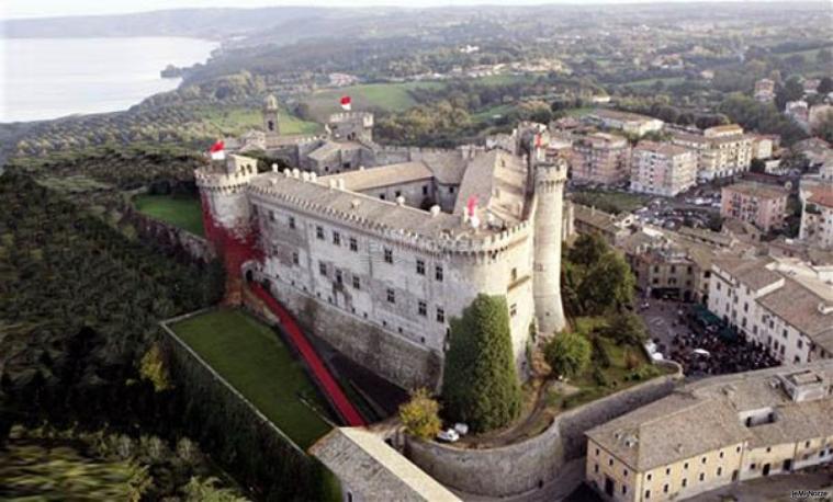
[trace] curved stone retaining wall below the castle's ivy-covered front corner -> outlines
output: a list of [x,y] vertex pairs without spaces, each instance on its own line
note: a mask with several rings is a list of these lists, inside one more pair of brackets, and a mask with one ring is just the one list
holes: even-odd
[[585,431],[669,395],[679,375],[663,376],[555,417],[541,434],[511,445],[463,449],[406,438],[405,454],[446,487],[484,497],[537,490],[586,454]]

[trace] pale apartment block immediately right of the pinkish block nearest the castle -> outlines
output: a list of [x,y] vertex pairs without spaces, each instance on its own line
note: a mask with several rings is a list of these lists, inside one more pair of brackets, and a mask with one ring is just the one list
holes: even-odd
[[697,157],[677,145],[640,141],[631,155],[633,192],[673,197],[697,182]]

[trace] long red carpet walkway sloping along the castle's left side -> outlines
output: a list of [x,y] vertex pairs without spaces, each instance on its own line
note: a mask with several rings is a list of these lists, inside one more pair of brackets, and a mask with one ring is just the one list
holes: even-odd
[[333,378],[329,369],[327,369],[327,366],[324,365],[322,358],[318,357],[318,353],[315,352],[315,349],[313,349],[313,345],[309,343],[306,336],[304,336],[301,328],[297,327],[295,320],[292,319],[292,316],[290,316],[286,309],[284,309],[283,306],[281,306],[281,304],[279,304],[278,300],[275,300],[274,297],[269,294],[269,292],[263,289],[260,284],[250,283],[250,286],[251,290],[258,296],[258,298],[263,300],[267,307],[269,307],[269,310],[278,316],[278,319],[281,321],[281,326],[286,331],[290,339],[292,339],[292,343],[295,344],[295,349],[297,349],[297,351],[301,353],[301,356],[304,357],[304,361],[306,361],[306,364],[312,370],[315,379],[318,380],[319,387],[324,392],[327,393],[329,402],[331,402],[336,408],[336,412],[338,412],[339,417],[341,417],[346,425],[367,425],[364,419],[361,417],[361,414],[359,414],[359,411],[356,410],[350,400],[347,399],[345,392],[341,391],[341,388],[336,383],[336,379]]

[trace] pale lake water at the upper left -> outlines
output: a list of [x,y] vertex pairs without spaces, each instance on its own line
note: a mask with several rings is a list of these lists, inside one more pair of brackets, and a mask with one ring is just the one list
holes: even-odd
[[0,38],[0,122],[126,110],[180,79],[166,66],[203,62],[217,47],[195,38]]

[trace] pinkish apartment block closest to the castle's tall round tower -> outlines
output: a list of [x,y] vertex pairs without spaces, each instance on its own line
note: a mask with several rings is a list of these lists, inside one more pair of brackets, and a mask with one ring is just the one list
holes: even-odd
[[593,133],[578,137],[573,141],[571,178],[579,183],[624,183],[630,178],[630,145],[621,136]]

